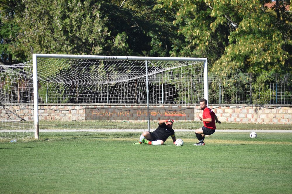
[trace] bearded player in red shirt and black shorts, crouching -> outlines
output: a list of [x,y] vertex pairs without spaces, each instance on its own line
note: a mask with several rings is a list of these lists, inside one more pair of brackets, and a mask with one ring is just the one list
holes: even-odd
[[205,135],[211,135],[215,132],[215,129],[216,129],[215,121],[216,123],[219,123],[219,124],[221,123],[218,120],[215,113],[213,112],[213,110],[207,107],[206,99],[200,100],[200,108],[201,110],[203,110],[203,118],[199,116],[197,118],[203,121],[204,126],[202,128],[195,130],[199,143],[196,143],[194,145],[197,145],[197,146],[205,145],[204,143]]

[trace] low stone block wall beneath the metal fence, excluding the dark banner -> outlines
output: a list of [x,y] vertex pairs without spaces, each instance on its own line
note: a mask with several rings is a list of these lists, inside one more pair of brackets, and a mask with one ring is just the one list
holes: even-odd
[[[103,105],[40,105],[39,120],[58,120],[58,121],[84,121],[85,107],[103,108]],[[109,106],[107,106],[109,107]],[[114,107],[118,107],[115,105]],[[161,106],[160,106],[161,107]],[[19,117],[25,120],[33,118],[33,106],[28,105],[13,105],[5,106],[6,109],[12,110]],[[195,116],[202,114],[199,106],[195,106]],[[210,104],[211,108],[222,122],[233,123],[258,123],[258,124],[292,124],[292,105],[214,105]],[[0,110],[3,114],[5,110]],[[6,110],[7,111],[7,110]],[[2,116],[1,116],[2,117]],[[6,119],[3,116],[2,120],[8,117],[15,117],[15,114],[10,113]],[[292,128],[292,126],[291,126]]]

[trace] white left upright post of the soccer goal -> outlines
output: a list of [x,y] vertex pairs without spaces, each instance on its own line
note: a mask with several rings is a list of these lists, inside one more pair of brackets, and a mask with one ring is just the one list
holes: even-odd
[[33,92],[34,92],[34,138],[39,139],[39,104],[38,104],[38,82],[37,82],[37,65],[36,54],[32,54],[33,65]]

